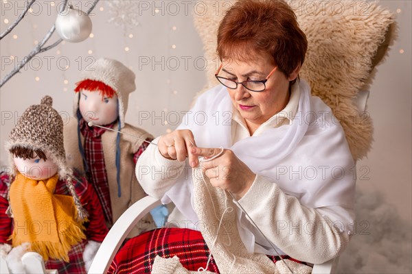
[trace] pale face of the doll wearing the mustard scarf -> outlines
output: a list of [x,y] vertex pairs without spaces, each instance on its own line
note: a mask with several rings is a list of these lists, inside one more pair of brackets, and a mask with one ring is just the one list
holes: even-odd
[[45,153],[47,160],[38,158],[36,155],[34,158],[26,159],[14,157],[14,164],[17,170],[29,179],[35,179],[37,181],[48,179],[56,175],[58,166],[54,164],[49,157],[49,153]]

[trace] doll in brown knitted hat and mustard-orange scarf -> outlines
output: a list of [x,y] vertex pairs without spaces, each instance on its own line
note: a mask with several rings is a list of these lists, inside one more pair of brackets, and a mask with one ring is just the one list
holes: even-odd
[[10,270],[23,271],[21,256],[34,251],[47,269],[85,273],[108,229],[94,189],[66,164],[51,97],[25,110],[5,149],[11,169],[0,178],[0,249]]

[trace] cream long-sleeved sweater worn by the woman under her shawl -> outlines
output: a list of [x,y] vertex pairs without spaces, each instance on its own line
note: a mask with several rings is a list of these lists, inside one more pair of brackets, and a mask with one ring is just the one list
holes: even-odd
[[[290,117],[297,111],[298,101],[299,89],[292,92],[284,110],[262,124],[253,136],[259,136],[268,128],[287,127]],[[249,137],[244,120],[236,110],[233,110],[231,133],[233,143]],[[161,199],[174,186],[173,178],[179,177],[187,166],[187,161],[168,160],[159,153],[157,147],[149,146],[137,162],[137,179],[148,195]],[[150,173],[144,172],[148,169]],[[299,199],[286,195],[275,182],[261,175],[255,177],[251,188],[238,202],[265,236],[273,244],[276,243],[279,253],[288,254],[297,260],[311,263],[330,260],[345,249],[352,234],[353,210],[341,206],[306,208]],[[238,214],[242,214],[240,209]],[[245,218],[244,214],[242,218]],[[168,220],[180,227],[188,226],[185,217],[176,209]],[[317,229],[314,229],[314,225]],[[249,247],[249,250],[277,255],[253,225],[250,224],[248,228],[255,236],[255,245]]]

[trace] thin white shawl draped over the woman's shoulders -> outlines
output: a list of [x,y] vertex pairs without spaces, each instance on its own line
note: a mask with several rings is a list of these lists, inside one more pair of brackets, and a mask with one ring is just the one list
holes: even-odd
[[[310,95],[306,82],[297,81],[292,88],[300,89],[300,98],[291,125],[266,129],[260,136],[232,145],[231,119],[227,119],[232,103],[225,86],[219,85],[198,97],[178,129],[190,129],[198,147],[231,149],[253,173],[271,178],[287,195],[297,197],[302,206],[352,209],[356,177],[343,129],[330,108],[319,97]],[[185,165],[185,172],[162,202],[172,201],[185,216],[188,227],[198,229],[192,169],[188,161]],[[253,252],[255,235],[249,229],[251,224],[240,212],[238,222],[242,241]]]

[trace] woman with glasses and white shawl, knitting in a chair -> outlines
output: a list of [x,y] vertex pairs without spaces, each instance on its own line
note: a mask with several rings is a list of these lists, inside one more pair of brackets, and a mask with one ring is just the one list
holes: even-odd
[[[339,256],[354,222],[354,160],[330,108],[299,79],[306,49],[283,1],[239,1],[229,9],[218,28],[220,84],[198,97],[178,129],[157,138],[158,147],[149,146],[137,163],[146,193],[174,203],[168,221],[181,228],[131,240],[129,257],[115,258],[113,267],[150,271],[157,254],[176,254],[189,270],[206,265],[208,247],[197,245],[203,239],[192,175],[199,165],[203,179],[238,205],[236,227],[250,253],[273,262],[279,254],[309,263]],[[139,251],[130,255],[133,245]],[[213,257],[207,266],[218,272]]]

